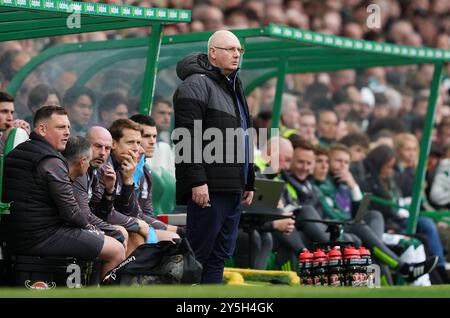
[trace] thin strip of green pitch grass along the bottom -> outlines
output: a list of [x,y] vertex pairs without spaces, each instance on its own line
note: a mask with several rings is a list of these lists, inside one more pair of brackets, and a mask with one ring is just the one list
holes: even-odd
[[53,290],[0,289],[0,298],[450,298],[450,285],[431,287],[146,286]]

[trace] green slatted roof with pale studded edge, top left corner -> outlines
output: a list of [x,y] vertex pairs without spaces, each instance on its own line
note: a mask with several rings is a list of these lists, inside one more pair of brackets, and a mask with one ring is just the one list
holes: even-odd
[[[69,19],[74,18],[79,23],[71,25]],[[191,11],[183,9],[66,0],[0,0],[0,42],[190,21]]]

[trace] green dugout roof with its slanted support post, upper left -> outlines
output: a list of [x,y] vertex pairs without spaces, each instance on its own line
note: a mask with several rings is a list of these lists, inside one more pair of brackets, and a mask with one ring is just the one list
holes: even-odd
[[[0,0],[0,42],[128,28],[151,28],[151,31],[144,29],[149,35],[145,38],[148,50],[140,66],[145,73],[142,82],[145,89],[142,89],[140,98],[145,109],[152,101],[163,25],[190,20],[190,10],[63,0]],[[37,80],[39,81],[39,78]],[[14,90],[10,92],[15,93]],[[3,155],[1,168],[3,170]],[[1,193],[0,182],[0,195]],[[8,208],[8,203],[0,202],[0,214],[8,213]]]

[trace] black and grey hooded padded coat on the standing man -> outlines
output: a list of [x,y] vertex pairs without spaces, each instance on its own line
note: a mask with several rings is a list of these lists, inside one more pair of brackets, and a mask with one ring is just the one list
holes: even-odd
[[[236,74],[230,75],[230,77],[236,76],[234,89],[232,83],[221,70],[209,64],[207,55],[203,53],[191,54],[180,61],[177,64],[177,75],[183,80],[183,83],[178,87],[173,97],[175,128],[187,128],[191,137],[191,161],[190,163],[180,162],[184,158],[182,156],[186,156],[186,153],[180,154],[179,149],[183,149],[187,145],[187,141],[183,141],[183,138],[174,135],[175,153],[177,155],[175,165],[177,203],[185,204],[187,198],[191,195],[191,189],[203,184],[208,184],[211,193],[238,193],[243,190],[253,190],[255,174],[253,164],[249,163],[248,177],[247,180],[244,180],[243,160],[237,158],[237,149],[243,147],[242,143],[239,140],[234,143],[234,155],[230,154],[229,149],[227,150],[227,144],[230,145],[232,140],[226,138],[226,129],[234,130],[241,127],[238,96],[244,104],[247,114],[249,113],[239,78]],[[222,132],[223,148],[215,149],[215,152],[212,152],[213,155],[217,155],[217,158],[223,158],[222,154],[226,154],[227,156],[223,158],[222,162],[215,160],[207,163],[203,156],[199,156],[200,151],[203,154],[205,146],[211,141],[194,143],[194,120],[201,120],[202,135],[208,128],[217,128]],[[249,116],[246,116],[246,121],[247,127],[250,127]],[[198,137],[197,140],[201,138],[201,136]],[[251,140],[249,145],[251,159]],[[208,149],[205,152],[211,153]],[[202,157],[201,162],[199,160],[194,161],[194,154]],[[230,157],[230,155],[232,156]]]

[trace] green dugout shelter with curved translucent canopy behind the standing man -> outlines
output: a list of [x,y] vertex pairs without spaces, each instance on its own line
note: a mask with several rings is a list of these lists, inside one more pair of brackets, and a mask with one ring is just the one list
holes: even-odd
[[[364,69],[376,66],[434,65],[426,123],[414,180],[413,199],[409,206],[410,218],[407,230],[408,233],[414,233],[417,218],[421,212],[421,192],[431,145],[438,89],[444,63],[450,60],[450,51],[355,40],[273,24],[262,28],[232,30],[232,32],[239,37],[245,48],[241,67],[246,92],[250,93],[272,78],[277,79],[273,105],[273,127],[279,125],[286,74]],[[202,32],[162,37],[157,63],[155,95],[171,98],[179,83],[175,75],[176,62],[194,51],[206,52],[207,40],[210,35],[210,32]],[[63,62],[65,60],[70,61],[67,68],[77,74],[75,85],[86,85],[94,89],[99,81],[115,80],[108,76],[111,74],[108,71],[112,69],[113,74],[114,71],[121,74],[120,70],[122,69],[123,74],[127,74],[126,83],[112,85],[111,88],[125,89],[129,97],[142,96],[139,110],[141,113],[148,114],[151,110],[151,103],[147,94],[152,91],[149,91],[148,86],[144,85],[148,74],[147,68],[144,69],[142,65],[145,58],[150,56],[149,43],[149,39],[136,38],[53,47],[25,65],[13,78],[8,90],[17,96],[24,89],[24,85],[27,85],[27,81],[32,77],[30,76],[32,72],[38,72],[38,77],[44,78],[50,85],[56,84],[55,80],[51,80],[57,78],[57,76],[52,77],[51,67],[56,64],[64,69]],[[155,50],[153,49],[152,52]],[[76,55],[78,58],[75,57]],[[69,58],[70,56],[73,57]],[[154,56],[154,58],[157,57]],[[131,72],[131,70],[134,71]],[[392,202],[384,203],[393,204]],[[428,216],[450,215],[443,212],[427,213]]]

